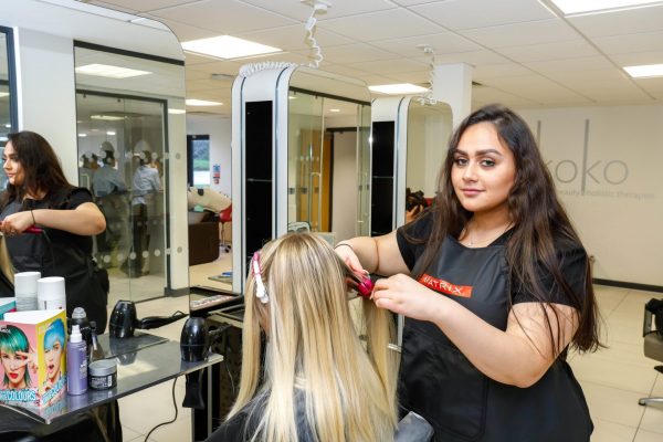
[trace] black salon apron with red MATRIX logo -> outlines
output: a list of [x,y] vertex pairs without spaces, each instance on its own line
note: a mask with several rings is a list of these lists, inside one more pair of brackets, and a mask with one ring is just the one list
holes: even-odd
[[[444,240],[419,282],[504,330],[508,318],[504,236],[469,249]],[[592,431],[580,386],[556,360],[529,388],[482,375],[434,324],[406,318],[399,378],[402,408],[425,418],[434,440],[587,442]]]

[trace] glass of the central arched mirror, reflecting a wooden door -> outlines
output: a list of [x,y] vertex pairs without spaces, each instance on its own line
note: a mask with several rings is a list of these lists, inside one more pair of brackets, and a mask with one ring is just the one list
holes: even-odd
[[288,107],[288,231],[333,244],[361,234],[370,106],[291,87]]

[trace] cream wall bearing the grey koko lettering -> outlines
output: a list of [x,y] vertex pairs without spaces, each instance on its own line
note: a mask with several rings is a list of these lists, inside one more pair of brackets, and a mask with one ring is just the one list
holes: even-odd
[[663,286],[663,106],[519,113],[535,135],[539,128],[561,200],[596,257],[594,277]]

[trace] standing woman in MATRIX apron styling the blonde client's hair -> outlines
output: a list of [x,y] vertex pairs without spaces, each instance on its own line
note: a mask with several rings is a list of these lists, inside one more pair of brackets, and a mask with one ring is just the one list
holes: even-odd
[[435,441],[589,441],[567,355],[599,346],[587,253],[526,123],[483,107],[452,136],[436,200],[336,252],[406,316],[399,400]]

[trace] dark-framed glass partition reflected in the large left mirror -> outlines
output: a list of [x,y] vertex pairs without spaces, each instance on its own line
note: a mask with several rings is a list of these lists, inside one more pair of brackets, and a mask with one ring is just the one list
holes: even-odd
[[80,185],[106,217],[95,256],[115,292],[131,301],[164,296],[168,122],[181,118],[183,66],[85,43],[76,43],[75,64]]

